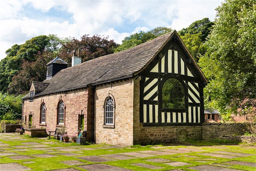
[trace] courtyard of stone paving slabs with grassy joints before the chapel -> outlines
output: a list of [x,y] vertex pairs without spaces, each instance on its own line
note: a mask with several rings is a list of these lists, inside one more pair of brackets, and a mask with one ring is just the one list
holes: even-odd
[[[24,142],[21,142],[20,137],[23,137],[21,139]],[[35,167],[31,166],[35,166],[38,161],[41,161],[38,159],[49,158],[55,161],[60,156],[68,157],[70,160],[58,161],[62,169],[57,169],[56,171],[131,170],[117,167],[115,164],[111,165],[111,163],[121,160],[129,161],[130,167],[128,168],[132,168],[132,170],[162,169],[181,171],[180,169],[185,167],[198,171],[239,171],[239,169],[232,168],[237,165],[240,168],[242,166],[243,170],[256,170],[256,161],[244,161],[244,159],[248,158],[256,159],[255,147],[237,146],[239,150],[234,151],[233,148],[228,146],[179,146],[180,148],[177,146],[154,146],[141,151],[138,148],[113,146],[66,146],[66,143],[52,142],[47,138],[42,138],[40,142],[34,141],[35,139],[25,139],[24,135],[1,133],[0,171],[32,170]],[[15,144],[14,142],[17,143]],[[94,155],[94,152],[102,149],[111,153],[115,151],[115,154]],[[125,149],[131,150],[130,152],[122,152]],[[40,154],[35,154],[35,150],[38,150]],[[247,152],[245,153],[245,151]],[[88,155],[88,152],[90,155]],[[1,159],[3,159],[3,162]],[[5,163],[4,159],[8,159],[7,161],[11,162]],[[184,159],[186,159],[186,162],[183,161]]]

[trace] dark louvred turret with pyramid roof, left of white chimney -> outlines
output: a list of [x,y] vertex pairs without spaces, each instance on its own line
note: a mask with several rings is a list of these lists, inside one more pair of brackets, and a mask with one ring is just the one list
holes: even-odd
[[50,61],[46,65],[47,65],[46,79],[50,79],[60,70],[67,68],[68,63],[62,60],[61,58],[56,57],[54,60]]

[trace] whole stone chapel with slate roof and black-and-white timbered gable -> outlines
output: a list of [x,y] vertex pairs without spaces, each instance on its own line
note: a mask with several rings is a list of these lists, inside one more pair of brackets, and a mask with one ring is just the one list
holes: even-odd
[[207,79],[176,31],[72,66],[59,57],[23,98],[24,122],[118,146],[201,139]]

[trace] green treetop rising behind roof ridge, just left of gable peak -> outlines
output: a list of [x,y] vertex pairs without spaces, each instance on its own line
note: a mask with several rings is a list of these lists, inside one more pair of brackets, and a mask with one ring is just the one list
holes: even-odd
[[120,52],[126,49],[130,49],[146,41],[152,40],[156,37],[171,32],[172,29],[168,27],[157,27],[148,32],[141,31],[140,33],[132,34],[129,37],[125,37],[122,40],[122,44],[115,49],[115,52]]

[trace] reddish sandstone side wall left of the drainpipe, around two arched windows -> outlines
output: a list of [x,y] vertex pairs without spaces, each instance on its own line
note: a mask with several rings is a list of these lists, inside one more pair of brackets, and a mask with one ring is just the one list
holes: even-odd
[[[34,97],[33,101],[26,99],[24,100],[23,107],[23,115],[26,115],[26,117],[23,118],[26,118],[26,123],[28,125],[29,115],[32,115],[32,125],[35,128],[45,128],[46,132],[54,131],[56,127],[62,127],[62,125],[57,124],[57,106],[59,101],[63,100],[65,105],[64,126],[66,127],[67,134],[69,136],[78,134],[78,128],[80,127],[78,117],[79,115],[84,114],[84,124],[86,130],[87,125],[89,125],[87,134],[89,140],[92,138],[92,120],[87,118],[88,113],[89,115],[92,115],[92,99],[88,100],[88,97],[91,98],[93,95],[92,93],[91,88],[83,88]],[[43,102],[46,105],[45,124],[40,123],[40,107]],[[90,105],[89,108],[88,105]]]

